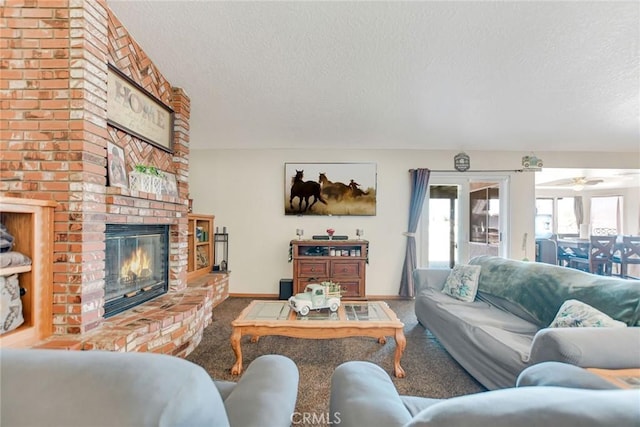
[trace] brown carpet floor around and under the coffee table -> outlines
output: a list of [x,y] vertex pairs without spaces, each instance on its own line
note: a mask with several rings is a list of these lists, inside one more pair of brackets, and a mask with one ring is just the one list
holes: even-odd
[[[231,321],[249,303],[247,298],[229,298],[213,311],[213,323],[203,333],[202,341],[187,359],[202,366],[214,379],[237,381],[230,373],[235,362],[231,350]],[[327,413],[331,373],[343,362],[367,360],[382,367],[391,376],[400,394],[447,398],[484,391],[444,350],[438,340],[420,325],[414,314],[413,300],[390,300],[389,307],[404,323],[407,346],[401,365],[406,378],[393,376],[395,340],[381,345],[367,337],[311,340],[264,336],[251,343],[242,337],[243,366],[262,354],[282,354],[291,358],[300,372],[296,411]]]

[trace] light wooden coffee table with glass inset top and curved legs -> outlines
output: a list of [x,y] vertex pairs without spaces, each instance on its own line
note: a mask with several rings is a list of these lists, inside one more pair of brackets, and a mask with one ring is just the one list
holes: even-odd
[[242,372],[240,338],[243,335],[251,335],[251,342],[257,342],[263,335],[282,335],[308,339],[372,337],[380,344],[387,342],[385,337],[393,336],[396,340],[394,374],[398,378],[405,377],[400,366],[407,345],[404,324],[383,301],[342,301],[335,313],[323,309],[301,316],[287,301],[256,300],[242,310],[231,326],[231,348],[236,355],[236,363],[231,368],[233,375]]

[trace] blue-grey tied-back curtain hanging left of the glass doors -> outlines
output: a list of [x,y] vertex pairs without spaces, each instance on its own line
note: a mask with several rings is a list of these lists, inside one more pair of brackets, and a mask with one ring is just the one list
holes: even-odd
[[422,213],[422,206],[427,196],[427,190],[429,189],[429,175],[431,171],[429,169],[411,169],[409,175],[411,176],[411,201],[409,204],[409,229],[406,233],[407,236],[407,251],[404,258],[404,265],[402,266],[402,277],[400,279],[400,292],[399,295],[403,297],[415,296],[415,287],[413,285],[413,270],[416,268],[416,229],[418,228],[418,221],[420,220],[420,214]]

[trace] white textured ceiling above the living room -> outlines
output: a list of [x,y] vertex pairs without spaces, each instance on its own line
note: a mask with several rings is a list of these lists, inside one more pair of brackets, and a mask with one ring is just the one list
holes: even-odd
[[640,149],[640,2],[108,1],[192,148]]

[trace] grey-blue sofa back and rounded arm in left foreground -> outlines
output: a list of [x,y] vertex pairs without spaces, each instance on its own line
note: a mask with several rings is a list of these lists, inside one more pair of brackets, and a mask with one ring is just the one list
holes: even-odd
[[298,369],[256,358],[235,382],[153,353],[0,350],[2,426],[290,426]]

